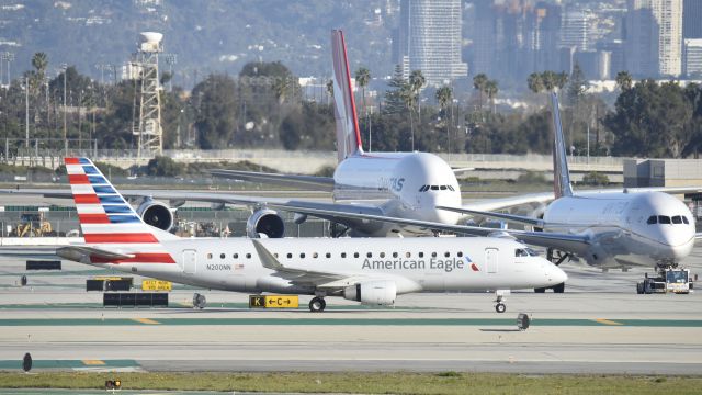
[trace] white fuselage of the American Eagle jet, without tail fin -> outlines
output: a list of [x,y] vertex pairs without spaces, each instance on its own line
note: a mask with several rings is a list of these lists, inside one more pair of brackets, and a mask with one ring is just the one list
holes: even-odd
[[[342,286],[389,280],[397,294],[532,289],[567,279],[546,259],[524,255],[522,244],[502,238],[284,238],[260,242],[286,268],[341,274],[347,282]],[[250,239],[179,239],[162,241],[162,246],[176,263],[97,266],[207,289],[315,293],[315,286],[293,285],[267,269]]]

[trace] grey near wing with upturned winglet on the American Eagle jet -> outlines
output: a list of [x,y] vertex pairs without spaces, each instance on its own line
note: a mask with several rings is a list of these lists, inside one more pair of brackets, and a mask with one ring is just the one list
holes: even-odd
[[336,284],[335,287],[338,287],[340,286],[338,284],[344,279],[349,279],[349,285],[353,283],[352,279],[346,274],[283,266],[271,251],[263,247],[260,240],[251,239],[251,241],[263,267],[274,270],[278,276],[288,280],[292,284],[315,287],[325,287],[325,284]]

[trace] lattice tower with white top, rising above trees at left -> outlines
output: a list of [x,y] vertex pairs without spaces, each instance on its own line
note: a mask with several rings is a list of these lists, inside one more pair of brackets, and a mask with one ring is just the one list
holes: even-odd
[[161,129],[161,101],[159,95],[158,55],[163,50],[163,35],[155,32],[139,33],[134,69],[138,71],[139,117],[133,132],[138,138],[138,156],[152,157],[163,151]]

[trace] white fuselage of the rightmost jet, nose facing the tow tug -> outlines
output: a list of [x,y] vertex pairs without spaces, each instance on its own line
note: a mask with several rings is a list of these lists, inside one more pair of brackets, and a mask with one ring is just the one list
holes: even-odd
[[602,267],[677,263],[695,235],[690,210],[661,192],[564,196],[547,206],[544,222],[545,232],[589,235],[593,248],[585,258]]

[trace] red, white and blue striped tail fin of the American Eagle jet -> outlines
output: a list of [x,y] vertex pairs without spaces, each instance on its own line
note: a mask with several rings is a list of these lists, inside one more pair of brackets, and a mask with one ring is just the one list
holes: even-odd
[[64,161],[86,244],[118,249],[134,257],[93,263],[174,263],[160,241],[176,236],[144,223],[90,159]]

